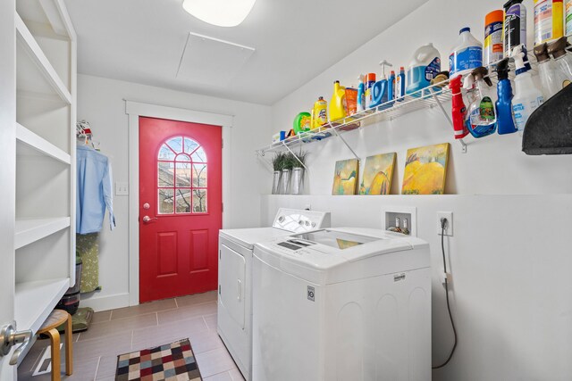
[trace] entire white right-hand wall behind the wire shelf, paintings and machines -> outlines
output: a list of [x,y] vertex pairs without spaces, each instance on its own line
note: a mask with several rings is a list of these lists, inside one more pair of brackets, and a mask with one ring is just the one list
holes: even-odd
[[[357,83],[359,73],[375,71],[387,59],[407,67],[418,46],[433,42],[448,67],[458,29],[469,26],[483,40],[484,15],[504,2],[431,0],[374,37],[292,94],[273,105],[273,129],[290,128],[298,112],[308,111],[319,95],[329,100],[332,82]],[[528,9],[532,43],[533,1]],[[389,10],[388,10],[389,11]],[[450,110],[450,104],[445,104]],[[467,153],[453,138],[437,109],[368,125],[344,135],[363,159],[375,153],[398,153],[391,196],[332,197],[334,163],[351,158],[337,138],[305,145],[308,157],[304,196],[266,195],[263,223],[281,206],[332,211],[334,226],[381,227],[381,208],[416,206],[418,236],[431,244],[433,262],[433,363],[451,345],[439,271],[441,246],[436,211],[453,211],[455,236],[447,239],[453,313],[459,344],[450,365],[433,372],[435,380],[572,379],[572,282],[568,274],[572,244],[571,156],[526,156],[518,134],[474,139]],[[450,142],[451,156],[444,196],[402,196],[401,178],[408,148]],[[270,193],[270,175],[265,194]]]

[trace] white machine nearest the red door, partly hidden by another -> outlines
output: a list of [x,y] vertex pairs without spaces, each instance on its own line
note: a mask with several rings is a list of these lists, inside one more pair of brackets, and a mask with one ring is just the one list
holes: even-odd
[[272,228],[224,229],[219,233],[217,332],[250,380],[252,369],[252,252],[254,244],[330,227],[330,213],[280,209]]

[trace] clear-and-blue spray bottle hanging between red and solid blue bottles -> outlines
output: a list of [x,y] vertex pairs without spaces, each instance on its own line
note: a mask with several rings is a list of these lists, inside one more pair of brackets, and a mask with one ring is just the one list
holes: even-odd
[[475,100],[468,106],[467,129],[473,137],[486,137],[496,129],[496,113],[492,103],[492,94],[489,87],[491,79],[487,77],[489,70],[483,66],[471,72],[475,78]]

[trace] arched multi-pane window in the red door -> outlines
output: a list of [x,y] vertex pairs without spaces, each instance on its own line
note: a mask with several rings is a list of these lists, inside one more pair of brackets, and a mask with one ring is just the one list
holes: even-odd
[[206,213],[206,153],[190,137],[167,139],[157,154],[159,214]]

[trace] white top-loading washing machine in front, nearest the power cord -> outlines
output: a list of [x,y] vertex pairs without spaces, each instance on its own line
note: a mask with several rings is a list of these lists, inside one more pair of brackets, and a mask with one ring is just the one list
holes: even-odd
[[431,379],[429,245],[335,228],[256,244],[253,381]]

